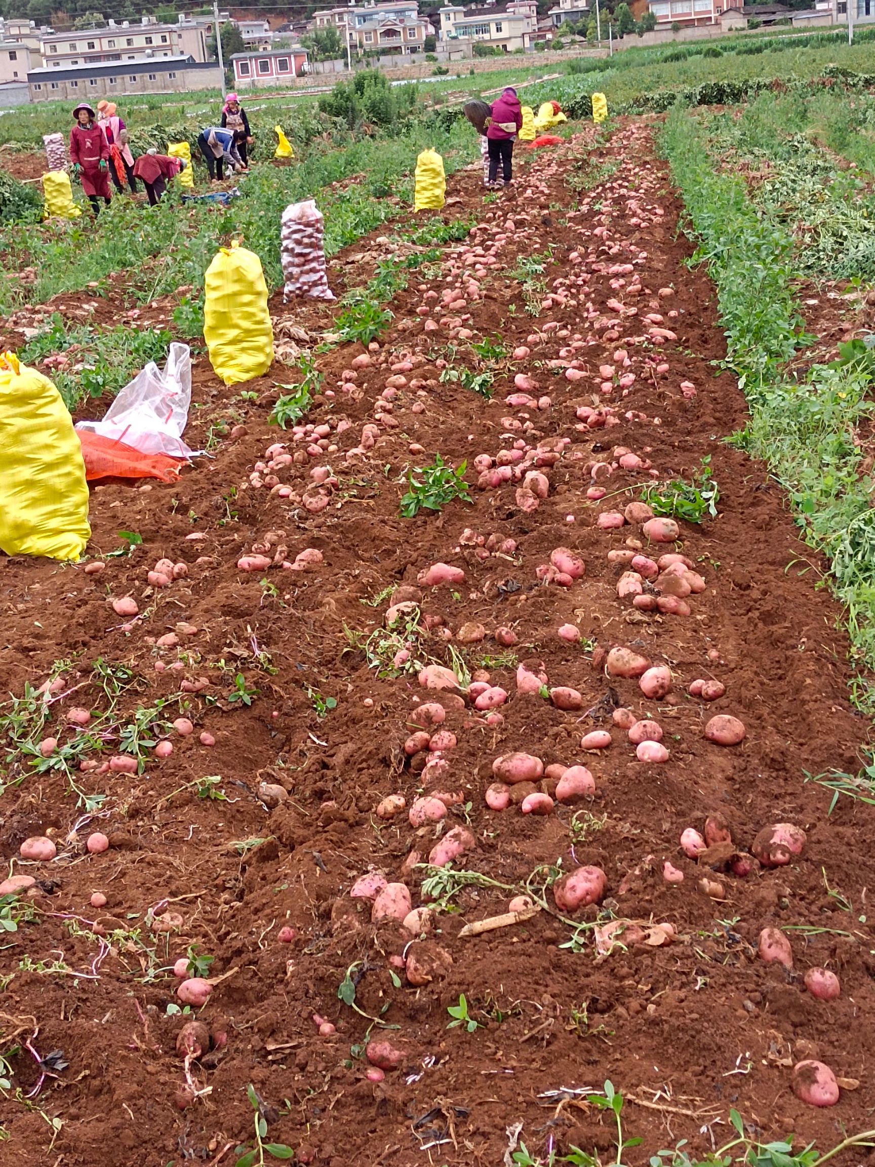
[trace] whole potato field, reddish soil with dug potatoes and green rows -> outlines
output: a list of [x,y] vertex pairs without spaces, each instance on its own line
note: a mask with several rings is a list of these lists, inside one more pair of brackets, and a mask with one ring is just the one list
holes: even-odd
[[468,77],[226,207],[43,221],[4,125],[0,351],[190,345],[202,453],[0,557],[0,1167],[872,1161],[875,41],[776,44],[520,89],[496,190]]

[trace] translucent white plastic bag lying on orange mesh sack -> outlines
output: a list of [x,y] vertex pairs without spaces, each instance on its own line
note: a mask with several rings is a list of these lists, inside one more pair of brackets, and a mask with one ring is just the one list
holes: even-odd
[[103,421],[80,421],[76,428],[113,438],[142,454],[191,457],[197,452],[182,440],[190,404],[191,350],[174,342],[163,370],[149,361],[125,385]]

